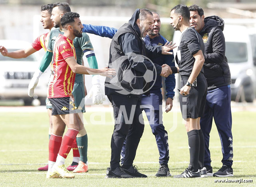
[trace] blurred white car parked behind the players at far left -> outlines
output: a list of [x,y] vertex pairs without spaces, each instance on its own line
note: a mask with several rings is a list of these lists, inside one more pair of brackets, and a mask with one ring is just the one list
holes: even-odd
[[[29,42],[20,40],[0,40],[0,45],[6,47],[8,52],[31,46]],[[39,99],[45,104],[50,71],[46,71],[40,77],[34,97],[28,96],[29,82],[39,63],[40,58],[37,53],[22,59],[13,59],[0,54],[0,99],[23,99],[25,105],[31,105],[33,99]]]

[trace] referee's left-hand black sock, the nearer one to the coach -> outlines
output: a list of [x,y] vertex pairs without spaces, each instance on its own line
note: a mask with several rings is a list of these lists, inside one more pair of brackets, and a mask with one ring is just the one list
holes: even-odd
[[199,160],[199,148],[200,148],[200,136],[198,130],[192,130],[187,132],[188,134],[188,146],[190,161],[189,165],[192,167],[189,168],[192,172],[198,171],[198,160]]

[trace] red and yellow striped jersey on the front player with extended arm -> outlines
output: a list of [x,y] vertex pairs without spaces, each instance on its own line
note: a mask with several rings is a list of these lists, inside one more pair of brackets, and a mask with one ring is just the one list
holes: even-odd
[[75,73],[65,59],[71,56],[76,59],[73,41],[60,34],[54,44],[51,64],[54,76],[50,80],[48,98],[70,97],[75,82]]

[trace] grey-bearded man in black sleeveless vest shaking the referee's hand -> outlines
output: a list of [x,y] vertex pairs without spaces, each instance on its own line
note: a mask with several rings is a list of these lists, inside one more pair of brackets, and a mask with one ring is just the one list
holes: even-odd
[[[144,131],[141,96],[150,89],[155,75],[167,77],[169,66],[153,64],[147,57],[172,54],[174,45],[145,46],[142,37],[152,30],[153,14],[144,8],[136,9],[129,23],[121,26],[110,45],[108,67],[116,68],[117,75],[105,81],[105,94],[112,103],[115,126],[111,138],[111,161],[106,178],[147,177],[133,166],[136,150]],[[152,74],[152,72],[154,72]],[[151,82],[152,83],[152,82]],[[120,153],[126,139],[125,159],[120,167]]]

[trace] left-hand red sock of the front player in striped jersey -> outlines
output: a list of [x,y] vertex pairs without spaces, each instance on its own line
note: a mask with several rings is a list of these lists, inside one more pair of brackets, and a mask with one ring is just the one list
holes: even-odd
[[56,162],[58,150],[61,147],[62,136],[51,134],[49,140],[49,160]]

